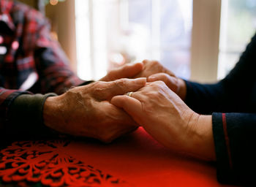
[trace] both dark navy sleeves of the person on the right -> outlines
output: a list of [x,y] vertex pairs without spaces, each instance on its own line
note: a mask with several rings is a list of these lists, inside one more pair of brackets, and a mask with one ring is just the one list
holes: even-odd
[[255,186],[256,35],[236,66],[214,84],[185,81],[185,102],[212,115],[217,178],[221,183]]

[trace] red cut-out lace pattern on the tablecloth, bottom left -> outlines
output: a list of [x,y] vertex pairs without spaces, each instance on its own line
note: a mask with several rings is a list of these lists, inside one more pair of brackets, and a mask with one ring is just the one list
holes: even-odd
[[[45,186],[127,186],[123,180],[69,156],[65,140],[13,142],[0,151],[4,183]],[[25,183],[25,185],[24,185]]]

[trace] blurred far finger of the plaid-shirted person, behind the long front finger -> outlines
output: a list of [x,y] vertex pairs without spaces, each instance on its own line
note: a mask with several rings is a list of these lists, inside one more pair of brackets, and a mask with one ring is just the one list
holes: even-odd
[[136,64],[127,64],[124,66],[119,67],[118,69],[113,69],[111,72],[108,73],[105,77],[103,77],[102,81],[111,81],[117,80],[121,78],[129,78],[134,77],[143,69],[142,63]]

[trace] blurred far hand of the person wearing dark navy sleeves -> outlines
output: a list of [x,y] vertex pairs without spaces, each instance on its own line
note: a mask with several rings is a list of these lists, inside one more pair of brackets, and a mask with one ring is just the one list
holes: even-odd
[[159,61],[143,61],[143,70],[135,77],[147,77],[148,82],[162,80],[165,84],[174,91],[182,100],[186,98],[187,87],[184,80],[176,77],[173,72],[166,69]]

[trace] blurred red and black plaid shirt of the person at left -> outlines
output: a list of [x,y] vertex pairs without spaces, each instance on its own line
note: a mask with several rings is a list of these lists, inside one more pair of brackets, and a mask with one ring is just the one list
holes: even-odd
[[[0,129],[20,94],[60,94],[83,83],[68,63],[59,43],[50,37],[48,20],[26,5],[0,0]],[[28,80],[34,85],[29,91],[24,86]]]

